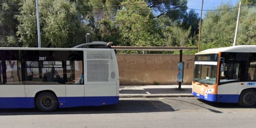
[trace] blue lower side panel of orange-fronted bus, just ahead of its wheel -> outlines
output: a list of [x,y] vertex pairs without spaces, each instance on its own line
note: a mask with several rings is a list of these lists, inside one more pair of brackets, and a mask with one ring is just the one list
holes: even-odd
[[217,102],[238,103],[238,94],[218,94]]

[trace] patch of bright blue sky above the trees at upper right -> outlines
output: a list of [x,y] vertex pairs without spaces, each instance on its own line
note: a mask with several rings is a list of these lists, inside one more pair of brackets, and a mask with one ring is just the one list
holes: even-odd
[[[216,9],[222,3],[230,3],[231,5],[236,5],[236,3],[238,2],[240,2],[240,0],[204,0],[203,9],[204,10]],[[189,9],[201,10],[202,0],[188,0],[187,6]],[[196,12],[200,16],[201,11],[196,11]],[[203,11],[203,15],[202,15],[203,18],[206,12],[207,11]]]

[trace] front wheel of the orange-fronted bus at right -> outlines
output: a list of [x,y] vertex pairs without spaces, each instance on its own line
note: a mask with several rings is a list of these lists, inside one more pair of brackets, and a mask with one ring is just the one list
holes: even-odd
[[254,90],[244,90],[239,97],[239,103],[242,107],[253,107],[256,104],[256,92]]

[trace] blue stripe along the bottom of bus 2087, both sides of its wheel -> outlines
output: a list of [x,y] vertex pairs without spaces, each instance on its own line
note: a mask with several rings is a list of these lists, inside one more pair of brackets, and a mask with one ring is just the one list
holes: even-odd
[[[113,105],[118,96],[58,97],[59,108]],[[35,108],[34,97],[0,97],[0,108]]]

